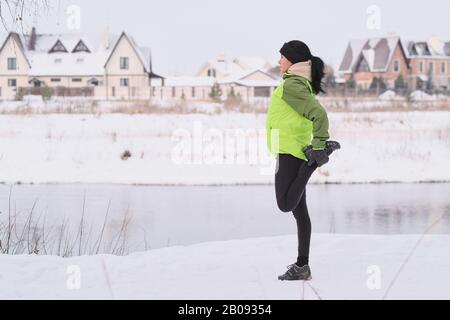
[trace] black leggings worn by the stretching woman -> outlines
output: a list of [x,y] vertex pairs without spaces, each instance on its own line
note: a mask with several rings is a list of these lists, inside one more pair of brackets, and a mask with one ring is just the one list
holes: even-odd
[[278,208],[292,211],[297,222],[298,257],[297,264],[309,263],[311,241],[311,220],[306,206],[306,184],[317,164],[309,167],[307,162],[290,154],[279,154],[275,174],[275,194]]

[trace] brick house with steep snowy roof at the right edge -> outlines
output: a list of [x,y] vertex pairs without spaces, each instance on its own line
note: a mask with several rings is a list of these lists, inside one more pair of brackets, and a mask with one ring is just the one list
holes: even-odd
[[353,78],[368,89],[373,78],[394,88],[401,75],[411,89],[422,89],[430,79],[435,88],[450,88],[450,42],[402,41],[398,36],[351,40],[339,66],[341,79]]

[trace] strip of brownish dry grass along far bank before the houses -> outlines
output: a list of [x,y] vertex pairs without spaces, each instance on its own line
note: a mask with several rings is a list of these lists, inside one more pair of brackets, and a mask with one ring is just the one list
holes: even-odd
[[[408,101],[408,100],[380,100],[376,97],[319,97],[321,104],[330,112],[402,112],[402,111],[450,111],[450,98],[438,101]],[[2,104],[5,104],[3,102]],[[33,108],[30,102],[18,105],[16,108],[2,109],[0,114],[34,115],[34,114],[192,114],[208,113],[222,114],[224,112],[256,113],[267,112],[269,99],[254,99],[251,101],[240,98],[227,99],[217,108],[197,108],[199,104],[208,105],[212,101],[188,101],[174,99],[164,101],[148,100],[57,100],[51,104],[45,104],[40,108]]]

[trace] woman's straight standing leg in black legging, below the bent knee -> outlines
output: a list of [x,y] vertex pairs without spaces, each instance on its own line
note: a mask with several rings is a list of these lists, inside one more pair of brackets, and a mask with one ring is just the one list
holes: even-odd
[[311,219],[306,205],[306,189],[297,208],[294,209],[294,218],[297,222],[298,256],[297,265],[303,267],[309,264],[309,246],[311,242]]

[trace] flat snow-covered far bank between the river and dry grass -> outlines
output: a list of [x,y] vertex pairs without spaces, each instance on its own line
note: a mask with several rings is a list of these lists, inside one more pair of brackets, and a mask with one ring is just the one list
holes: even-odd
[[[450,181],[450,112],[329,118],[342,150],[312,183]],[[264,124],[242,113],[1,115],[0,181],[272,183]]]

